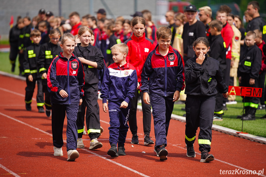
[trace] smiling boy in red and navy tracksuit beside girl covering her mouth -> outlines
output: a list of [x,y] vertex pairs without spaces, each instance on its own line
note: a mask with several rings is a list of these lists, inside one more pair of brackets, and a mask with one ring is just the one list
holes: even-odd
[[143,66],[140,90],[144,103],[153,108],[155,147],[160,160],[167,160],[167,132],[181,90],[185,88],[184,61],[179,52],[170,46],[172,32],[169,27],[160,27],[156,32],[158,45],[152,50]]

